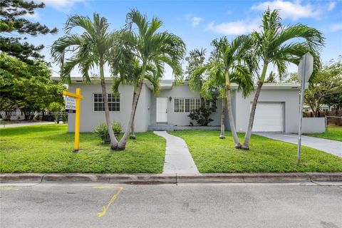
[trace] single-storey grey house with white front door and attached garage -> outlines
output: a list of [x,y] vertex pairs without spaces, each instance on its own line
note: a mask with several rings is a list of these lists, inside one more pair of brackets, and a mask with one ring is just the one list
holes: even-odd
[[[93,132],[99,123],[105,122],[99,83],[99,81],[93,81],[92,84],[86,84],[83,83],[82,78],[72,78],[71,85],[68,86],[70,92],[75,92],[76,88],[81,88],[81,94],[84,96],[81,100],[81,132]],[[115,98],[110,93],[111,79],[108,78],[106,83],[111,120],[118,121],[125,126],[130,117],[133,87],[120,86],[120,97]],[[248,98],[243,98],[242,93],[236,90],[236,85],[233,85],[232,88],[235,124],[238,131],[244,132],[247,128],[254,94],[249,95]],[[173,81],[163,80],[160,83],[160,93],[153,95],[152,85],[146,81],[135,114],[135,131],[172,130],[182,128],[182,126],[190,126],[190,122],[193,121],[188,115],[191,110],[199,107],[200,102],[199,93],[192,92],[187,83],[175,86]],[[214,120],[209,123],[210,126],[219,126],[221,123],[222,102],[220,99],[217,100],[216,105],[217,110],[210,116]],[[264,84],[259,96],[253,130],[295,133],[298,130],[298,115],[298,84]],[[68,131],[73,132],[74,126],[75,115],[69,113]],[[229,130],[227,116],[226,129]]]

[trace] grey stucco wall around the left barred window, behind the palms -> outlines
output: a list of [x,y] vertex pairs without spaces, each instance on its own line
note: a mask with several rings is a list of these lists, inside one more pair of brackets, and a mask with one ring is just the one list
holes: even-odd
[[[95,112],[93,110],[93,93],[102,93],[100,84],[71,84],[68,90],[75,93],[76,88],[81,88],[83,100],[81,100],[81,132],[93,132],[93,129],[100,123],[105,123],[105,112]],[[111,85],[106,86],[107,93],[112,92]],[[130,118],[130,111],[132,110],[133,87],[120,86],[120,111],[110,112],[112,121],[120,122],[124,128]],[[143,86],[138,102],[138,107],[135,114],[135,131],[145,132],[150,123],[150,89]],[[75,130],[75,114],[68,114],[68,131]]]

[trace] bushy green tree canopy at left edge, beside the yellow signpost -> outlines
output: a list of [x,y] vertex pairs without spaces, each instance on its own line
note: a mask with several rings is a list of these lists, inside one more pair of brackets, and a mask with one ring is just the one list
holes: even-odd
[[63,104],[63,84],[51,81],[51,71],[43,61],[33,65],[0,53],[0,110],[46,110],[50,103]]

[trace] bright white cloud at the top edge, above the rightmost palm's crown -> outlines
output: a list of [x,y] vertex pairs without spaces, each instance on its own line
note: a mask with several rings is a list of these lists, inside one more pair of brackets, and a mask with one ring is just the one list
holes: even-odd
[[279,9],[279,14],[283,19],[297,20],[301,18],[317,18],[321,12],[318,7],[311,4],[302,5],[300,1],[265,1],[252,6],[252,10],[265,11],[267,8]]

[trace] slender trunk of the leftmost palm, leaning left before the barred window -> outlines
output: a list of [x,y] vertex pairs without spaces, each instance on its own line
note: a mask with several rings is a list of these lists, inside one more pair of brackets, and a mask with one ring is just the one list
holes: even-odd
[[108,98],[107,98],[107,91],[105,89],[105,77],[103,73],[103,66],[100,66],[100,78],[101,78],[101,88],[102,88],[102,96],[103,96],[103,103],[105,105],[105,123],[107,124],[109,138],[110,138],[110,148],[115,150],[118,147],[118,140],[115,138],[112,122],[110,121],[109,115],[109,108],[108,108]]

